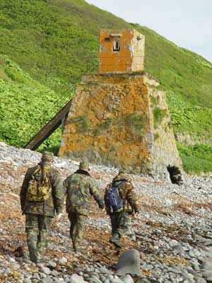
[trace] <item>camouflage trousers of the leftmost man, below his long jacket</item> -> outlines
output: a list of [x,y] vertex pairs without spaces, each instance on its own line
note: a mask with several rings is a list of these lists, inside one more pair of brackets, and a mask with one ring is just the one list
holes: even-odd
[[52,216],[25,214],[25,231],[27,233],[30,260],[33,262],[42,262],[43,260],[51,224]]

